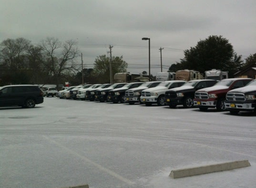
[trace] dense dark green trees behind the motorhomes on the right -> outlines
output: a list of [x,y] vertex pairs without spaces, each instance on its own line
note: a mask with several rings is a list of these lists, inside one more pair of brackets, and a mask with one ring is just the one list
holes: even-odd
[[235,53],[231,43],[222,36],[210,36],[197,42],[195,47],[184,51],[184,58],[172,64],[170,72],[181,69],[193,69],[201,73],[206,70],[220,69],[228,71],[229,77],[247,65],[256,63],[256,53],[251,54],[243,62],[242,55]]

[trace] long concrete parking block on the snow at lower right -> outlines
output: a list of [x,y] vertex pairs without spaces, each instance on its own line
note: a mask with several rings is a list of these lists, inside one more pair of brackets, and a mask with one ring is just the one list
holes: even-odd
[[175,178],[182,178],[187,176],[207,174],[212,172],[232,170],[235,168],[243,168],[243,167],[249,167],[249,166],[251,166],[251,164],[249,163],[248,160],[231,161],[226,163],[218,163],[218,164],[212,164],[212,165],[206,165],[206,166],[200,166],[200,167],[194,167],[194,168],[183,168],[183,169],[172,170],[169,176],[175,179]]

